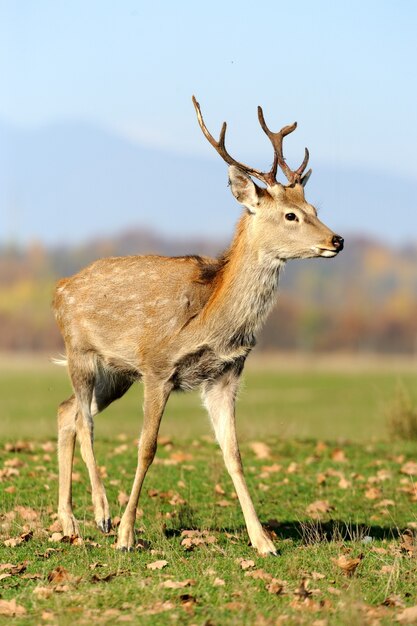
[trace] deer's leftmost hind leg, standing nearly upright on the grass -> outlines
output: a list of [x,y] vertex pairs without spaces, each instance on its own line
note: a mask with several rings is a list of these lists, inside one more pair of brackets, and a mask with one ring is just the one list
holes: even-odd
[[58,409],[58,517],[64,535],[78,535],[79,528],[72,511],[72,463],[76,437],[77,401],[71,396]]

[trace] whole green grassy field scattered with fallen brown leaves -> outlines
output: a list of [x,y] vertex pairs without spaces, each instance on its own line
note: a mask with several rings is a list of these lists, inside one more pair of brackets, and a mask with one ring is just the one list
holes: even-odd
[[[0,623],[392,624],[417,621],[417,442],[389,441],[404,364],[254,359],[239,400],[242,456],[278,558],[248,546],[198,396],[172,397],[140,501],[138,549],[96,530],[74,466],[83,539],[56,521],[55,411],[65,371],[0,362]],[[140,391],[97,418],[117,526],[133,480]],[[262,442],[263,445],[259,445]],[[255,444],[258,445],[255,445]]]

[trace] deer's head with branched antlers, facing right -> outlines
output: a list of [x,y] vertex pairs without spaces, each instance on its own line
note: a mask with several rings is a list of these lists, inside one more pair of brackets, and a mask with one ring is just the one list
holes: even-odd
[[[343,238],[318,219],[316,209],[305,199],[304,187],[311,175],[311,169],[304,173],[309,158],[307,148],[304,160],[297,170],[291,170],[284,159],[283,139],[296,129],[296,123],[274,133],[267,127],[262,109],[258,107],[260,125],[274,149],[271,170],[261,172],[230,156],[225,147],[226,122],[222,126],[219,140],[216,141],[207,130],[200,105],[194,96],[193,103],[205,137],[229,164],[232,193],[250,213],[250,228],[263,254],[283,260],[330,258],[343,250]],[[287,185],[276,179],[278,166],[288,180]],[[253,178],[262,181],[266,187],[257,185]]]

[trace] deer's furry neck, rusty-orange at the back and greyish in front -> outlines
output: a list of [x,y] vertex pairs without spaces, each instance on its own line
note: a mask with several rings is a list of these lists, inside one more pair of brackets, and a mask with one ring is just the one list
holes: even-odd
[[244,215],[215,280],[205,317],[224,344],[251,346],[277,294],[284,261],[268,258]]

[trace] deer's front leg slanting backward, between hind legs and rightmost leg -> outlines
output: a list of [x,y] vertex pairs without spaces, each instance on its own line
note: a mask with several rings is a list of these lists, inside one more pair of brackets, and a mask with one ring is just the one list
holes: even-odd
[[131,550],[135,544],[135,519],[143,481],[156,453],[159,425],[167,403],[171,386],[161,382],[145,383],[143,403],[143,426],[138,445],[138,464],[129,502],[119,526],[117,547]]

